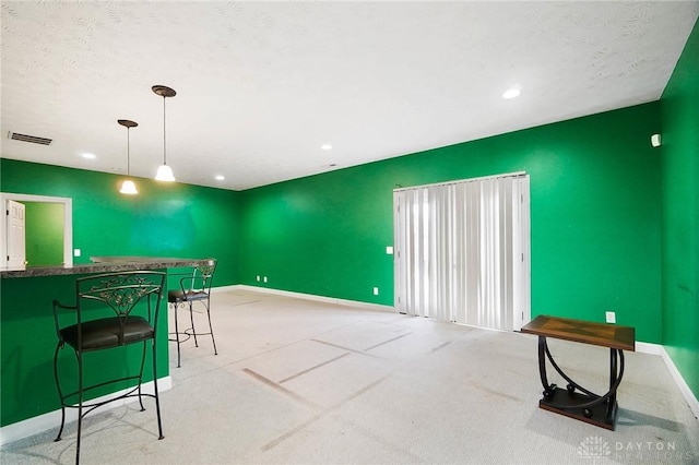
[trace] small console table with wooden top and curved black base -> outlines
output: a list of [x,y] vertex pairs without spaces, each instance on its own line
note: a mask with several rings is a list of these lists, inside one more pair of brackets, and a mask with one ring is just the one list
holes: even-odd
[[[545,410],[614,430],[617,414],[616,391],[624,375],[624,350],[636,349],[636,330],[616,324],[538,315],[522,326],[521,332],[538,336],[538,372],[544,386],[544,397],[538,402],[538,406]],[[609,391],[603,395],[594,394],[564,373],[548,350],[547,337],[608,347]],[[546,360],[568,382],[566,389],[548,383]]]

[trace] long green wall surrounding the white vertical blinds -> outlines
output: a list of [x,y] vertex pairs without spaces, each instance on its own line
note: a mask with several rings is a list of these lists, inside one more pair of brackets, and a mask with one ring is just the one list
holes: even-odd
[[526,171],[532,315],[661,343],[659,130],[651,103],[244,191],[241,283],[391,306],[394,188]]

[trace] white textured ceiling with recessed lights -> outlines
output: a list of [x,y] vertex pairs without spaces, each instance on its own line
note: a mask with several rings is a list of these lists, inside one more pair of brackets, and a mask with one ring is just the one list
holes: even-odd
[[697,1],[1,7],[3,157],[123,174],[131,119],[131,175],[152,177],[163,84],[178,181],[235,190],[656,100],[699,15]]

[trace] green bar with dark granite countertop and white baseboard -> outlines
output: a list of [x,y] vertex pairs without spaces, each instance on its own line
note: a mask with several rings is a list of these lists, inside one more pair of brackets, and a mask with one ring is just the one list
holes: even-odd
[[[168,281],[171,281],[169,287],[175,288],[178,279],[170,276],[173,273],[209,264],[212,259],[93,257],[91,260],[93,263],[72,266],[0,269],[1,442],[40,432],[42,428],[58,427],[60,424],[60,415],[57,416],[60,404],[52,370],[58,337],[51,302],[58,299],[66,305],[74,305],[76,278],[99,273],[151,270],[167,273]],[[167,289],[164,295],[167,296]],[[156,342],[158,378],[166,378],[162,389],[167,389],[170,384],[167,320],[167,298],[164,297],[161,301]],[[135,349],[125,348],[127,351]],[[140,363],[140,353],[135,350],[133,354],[133,360],[129,356],[129,365]],[[120,370],[126,371],[125,363],[115,363],[107,356],[97,366],[116,374]],[[71,369],[75,365],[74,358],[68,351],[61,356],[61,369]],[[151,380],[146,377],[144,381]]]

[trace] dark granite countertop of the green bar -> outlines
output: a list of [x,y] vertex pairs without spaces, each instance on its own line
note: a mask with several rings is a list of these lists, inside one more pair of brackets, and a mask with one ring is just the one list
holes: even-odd
[[92,257],[94,263],[0,269],[2,278],[112,273],[135,270],[176,269],[210,264],[213,259],[174,259],[161,257]]

